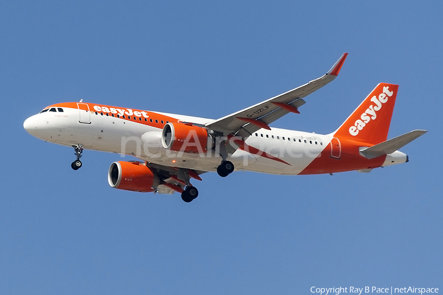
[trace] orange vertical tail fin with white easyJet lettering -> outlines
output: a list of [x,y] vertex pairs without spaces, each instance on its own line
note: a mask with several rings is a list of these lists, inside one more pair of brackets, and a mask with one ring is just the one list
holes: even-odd
[[377,145],[387,139],[398,85],[380,83],[334,133],[339,139],[350,139]]

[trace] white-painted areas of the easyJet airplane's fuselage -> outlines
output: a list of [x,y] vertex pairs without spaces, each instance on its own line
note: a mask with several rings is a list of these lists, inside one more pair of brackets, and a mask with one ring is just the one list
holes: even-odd
[[[205,124],[212,119],[155,113]],[[80,117],[82,116],[82,117]],[[201,171],[216,171],[221,156],[212,149],[203,154],[170,152],[160,143],[162,126],[154,127],[121,118],[88,112],[85,116],[78,109],[63,108],[62,112],[45,112],[28,118],[25,129],[44,141],[73,146],[82,144],[85,149],[132,155],[161,165]],[[327,147],[332,135],[272,128],[254,132],[245,142],[273,155],[282,161],[257,156],[237,149],[229,158],[237,170],[247,170],[279,175],[297,175],[303,171],[322,150]]]

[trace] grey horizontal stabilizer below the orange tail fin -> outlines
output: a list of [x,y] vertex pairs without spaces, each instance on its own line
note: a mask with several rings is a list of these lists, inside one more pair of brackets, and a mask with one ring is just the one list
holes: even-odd
[[360,148],[360,153],[368,158],[372,159],[381,155],[387,155],[391,154],[394,151],[406,146],[414,139],[417,139],[418,137],[422,136],[428,132],[427,130],[414,130],[409,133],[397,136],[393,139],[387,140],[385,142],[382,142],[381,144],[375,145],[370,148]]

